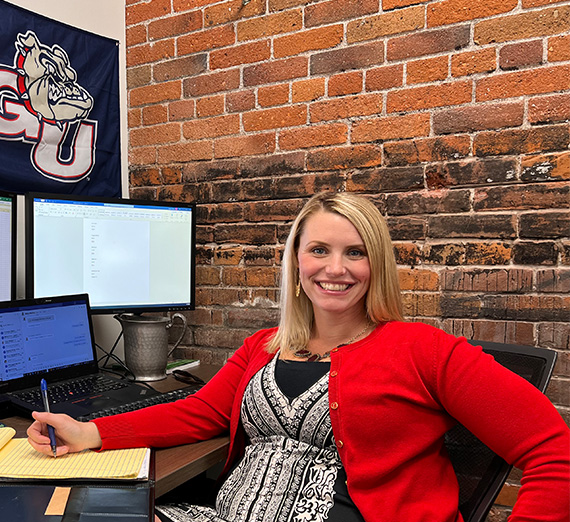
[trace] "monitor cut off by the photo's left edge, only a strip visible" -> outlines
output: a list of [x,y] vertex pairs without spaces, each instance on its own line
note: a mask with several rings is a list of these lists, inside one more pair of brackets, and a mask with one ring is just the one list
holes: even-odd
[[0,192],[0,301],[16,298],[16,195]]

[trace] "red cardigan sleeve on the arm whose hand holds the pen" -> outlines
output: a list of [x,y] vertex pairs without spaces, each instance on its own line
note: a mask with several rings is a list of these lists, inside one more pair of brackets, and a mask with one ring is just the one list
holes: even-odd
[[246,342],[198,392],[172,403],[95,419],[101,449],[168,447],[228,431],[236,390],[255,343]]

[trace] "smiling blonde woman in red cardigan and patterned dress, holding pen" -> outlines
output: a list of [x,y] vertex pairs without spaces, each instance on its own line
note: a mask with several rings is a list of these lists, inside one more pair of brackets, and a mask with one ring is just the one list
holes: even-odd
[[279,328],[246,339],[195,395],[85,424],[35,413],[30,444],[50,453],[48,422],[61,454],[229,430],[216,508],[163,506],[160,520],[459,522],[443,449],[459,421],[523,469],[511,522],[568,520],[568,427],[465,339],[402,321],[392,245],[372,203],[311,198],[287,240],[281,286]]

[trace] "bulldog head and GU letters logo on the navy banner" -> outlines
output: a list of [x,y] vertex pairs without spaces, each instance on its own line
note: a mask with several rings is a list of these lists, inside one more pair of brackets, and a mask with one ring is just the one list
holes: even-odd
[[31,143],[31,163],[43,176],[84,179],[95,164],[92,96],[60,46],[43,45],[28,31],[15,47],[15,66],[0,64],[0,139]]

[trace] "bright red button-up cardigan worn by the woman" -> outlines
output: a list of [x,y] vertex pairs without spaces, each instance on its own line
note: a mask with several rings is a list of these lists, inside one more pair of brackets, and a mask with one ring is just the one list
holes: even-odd
[[[244,449],[240,405],[273,354],[274,332],[245,340],[198,393],[93,421],[103,449],[164,447],[230,430],[228,470]],[[442,330],[391,322],[331,355],[329,405],[349,493],[367,522],[459,522],[458,486],[443,449],[457,419],[524,471],[510,522],[570,520],[570,430],[524,379]]]

